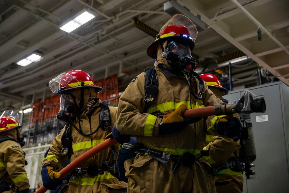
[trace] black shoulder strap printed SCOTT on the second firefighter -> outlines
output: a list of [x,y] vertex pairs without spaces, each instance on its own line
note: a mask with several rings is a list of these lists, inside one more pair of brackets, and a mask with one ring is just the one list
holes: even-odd
[[[110,116],[110,109],[108,107],[108,102],[102,101],[100,103],[100,106],[101,106],[101,111],[100,111],[99,117],[98,117],[98,120],[100,123],[100,128],[102,130],[106,130],[106,135],[108,135],[112,130],[111,116]],[[101,120],[102,120],[102,122],[101,122]]]

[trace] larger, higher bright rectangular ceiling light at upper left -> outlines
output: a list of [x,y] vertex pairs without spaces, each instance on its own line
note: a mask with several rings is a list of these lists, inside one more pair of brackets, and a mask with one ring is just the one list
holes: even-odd
[[62,25],[62,27],[60,27],[60,30],[63,30],[67,33],[70,33],[73,30],[75,30],[76,28],[83,25],[84,23],[92,20],[93,18],[95,18],[95,15],[92,15],[92,14],[88,13],[87,11],[85,11],[85,12],[81,13],[79,16],[75,17],[73,20]]

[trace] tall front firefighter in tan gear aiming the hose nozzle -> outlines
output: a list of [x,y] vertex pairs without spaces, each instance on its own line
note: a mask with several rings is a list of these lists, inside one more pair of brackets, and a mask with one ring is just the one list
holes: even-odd
[[131,150],[138,155],[124,163],[128,193],[216,192],[216,170],[199,160],[207,129],[224,134],[235,124],[239,128],[231,135],[239,137],[241,127],[235,119],[182,116],[186,109],[221,104],[193,71],[196,37],[192,21],[174,15],[147,48],[155,69],[134,78],[119,99],[112,135],[119,143],[129,141],[129,135],[137,139]]

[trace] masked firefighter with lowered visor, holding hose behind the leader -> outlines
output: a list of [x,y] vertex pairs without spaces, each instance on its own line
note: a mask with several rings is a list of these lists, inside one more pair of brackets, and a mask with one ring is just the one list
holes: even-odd
[[[62,183],[59,170],[67,159],[71,162],[105,140],[115,125],[116,107],[95,98],[102,90],[88,73],[72,70],[49,82],[52,92],[60,95],[57,119],[66,122],[50,145],[42,162],[42,182],[53,190]],[[127,184],[119,182],[116,156],[119,144],[100,152],[71,172],[71,179],[60,192],[125,192]]]

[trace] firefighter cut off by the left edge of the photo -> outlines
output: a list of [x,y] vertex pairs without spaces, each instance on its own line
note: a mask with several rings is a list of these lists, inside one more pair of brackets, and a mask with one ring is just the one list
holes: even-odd
[[18,114],[4,111],[0,117],[0,192],[29,192],[29,180],[24,166],[25,153],[22,146]]

